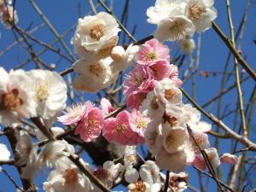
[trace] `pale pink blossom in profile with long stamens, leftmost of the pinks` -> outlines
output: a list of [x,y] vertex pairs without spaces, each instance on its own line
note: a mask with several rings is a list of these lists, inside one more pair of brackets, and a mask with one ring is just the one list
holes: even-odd
[[73,103],[65,109],[64,115],[58,117],[58,120],[63,125],[73,125],[78,123],[82,119],[84,112],[90,108],[93,108],[91,102]]

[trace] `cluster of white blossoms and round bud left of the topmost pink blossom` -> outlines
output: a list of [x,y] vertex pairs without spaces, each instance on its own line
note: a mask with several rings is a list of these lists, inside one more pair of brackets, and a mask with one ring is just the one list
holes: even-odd
[[79,60],[73,64],[78,76],[73,81],[77,90],[97,92],[113,84],[119,72],[131,65],[137,46],[116,46],[119,25],[112,15],[100,12],[79,19],[71,40]]

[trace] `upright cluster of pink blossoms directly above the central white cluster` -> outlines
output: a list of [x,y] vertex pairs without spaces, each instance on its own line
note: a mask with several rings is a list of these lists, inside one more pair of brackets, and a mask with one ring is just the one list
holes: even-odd
[[124,81],[126,105],[129,108],[140,108],[149,91],[162,79],[172,79],[179,86],[177,67],[170,65],[170,51],[157,39],[151,39],[141,46],[136,55],[137,65]]

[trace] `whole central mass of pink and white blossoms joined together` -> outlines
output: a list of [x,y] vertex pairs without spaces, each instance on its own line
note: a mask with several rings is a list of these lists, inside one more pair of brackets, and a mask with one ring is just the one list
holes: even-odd
[[201,121],[196,108],[183,104],[182,82],[177,67],[170,64],[168,47],[152,39],[140,47],[135,58],[137,65],[124,81],[127,109],[104,119],[114,108],[103,98],[101,108],[82,103],[67,108],[59,120],[65,125],[77,124],[75,134],[84,142],[94,141],[102,133],[109,143],[121,146],[146,143],[157,166],[172,172],[183,172],[191,164],[204,170],[200,148],[213,167],[221,161],[236,163],[236,156],[219,158],[217,149],[210,148],[207,132],[211,125]]

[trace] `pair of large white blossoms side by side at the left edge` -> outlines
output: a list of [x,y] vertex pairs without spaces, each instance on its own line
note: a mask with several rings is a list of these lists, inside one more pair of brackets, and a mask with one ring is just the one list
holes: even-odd
[[58,73],[41,69],[7,73],[0,67],[0,76],[0,124],[4,126],[32,117],[50,125],[66,107],[67,85]]

